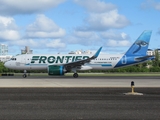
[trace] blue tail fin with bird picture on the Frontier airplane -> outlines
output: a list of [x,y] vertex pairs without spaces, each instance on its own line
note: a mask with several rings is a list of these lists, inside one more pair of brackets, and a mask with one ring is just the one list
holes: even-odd
[[146,56],[152,31],[145,30],[133,43],[125,55]]

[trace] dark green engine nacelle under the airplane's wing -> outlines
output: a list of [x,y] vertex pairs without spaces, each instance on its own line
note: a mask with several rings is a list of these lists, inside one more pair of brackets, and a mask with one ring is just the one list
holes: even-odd
[[64,66],[49,65],[48,75],[64,75]]

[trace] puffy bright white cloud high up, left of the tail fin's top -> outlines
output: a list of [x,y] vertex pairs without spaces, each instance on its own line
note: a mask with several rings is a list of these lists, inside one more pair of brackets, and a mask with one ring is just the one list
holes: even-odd
[[119,15],[118,10],[106,13],[93,13],[88,18],[90,29],[107,30],[112,28],[123,28],[130,24],[125,16]]

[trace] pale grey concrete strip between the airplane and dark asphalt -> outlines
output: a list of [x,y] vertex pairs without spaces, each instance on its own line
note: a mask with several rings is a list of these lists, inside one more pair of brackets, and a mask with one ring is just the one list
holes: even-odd
[[135,87],[160,87],[160,76],[1,76],[0,87],[130,87],[131,81]]

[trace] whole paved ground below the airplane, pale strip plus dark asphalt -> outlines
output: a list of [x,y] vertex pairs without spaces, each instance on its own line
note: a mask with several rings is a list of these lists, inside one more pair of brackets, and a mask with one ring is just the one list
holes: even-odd
[[[141,96],[131,92],[130,82]],[[160,77],[0,77],[0,119],[160,119]]]

